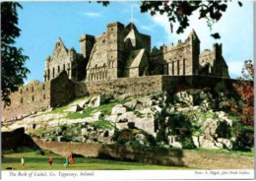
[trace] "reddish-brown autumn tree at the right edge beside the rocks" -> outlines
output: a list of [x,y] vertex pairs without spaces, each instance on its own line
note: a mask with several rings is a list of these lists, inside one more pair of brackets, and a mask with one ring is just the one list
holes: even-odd
[[254,67],[251,60],[244,61],[242,77],[238,78],[238,83],[233,84],[235,91],[243,100],[242,107],[231,106],[231,110],[241,116],[241,123],[245,126],[254,125]]

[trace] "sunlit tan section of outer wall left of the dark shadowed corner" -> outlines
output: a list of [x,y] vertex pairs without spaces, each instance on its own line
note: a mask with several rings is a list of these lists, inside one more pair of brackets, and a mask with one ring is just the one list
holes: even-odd
[[[1,119],[21,119],[50,105],[50,83],[32,81],[10,94],[11,106],[2,106]],[[3,103],[2,103],[3,105]]]

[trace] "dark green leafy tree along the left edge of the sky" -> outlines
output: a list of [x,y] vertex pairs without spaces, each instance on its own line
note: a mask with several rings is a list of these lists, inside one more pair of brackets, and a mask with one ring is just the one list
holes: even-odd
[[17,91],[24,84],[24,79],[30,73],[25,67],[28,56],[23,55],[23,49],[15,47],[15,38],[20,36],[17,8],[23,8],[18,2],[1,3],[1,93],[2,100],[10,105],[10,92]]

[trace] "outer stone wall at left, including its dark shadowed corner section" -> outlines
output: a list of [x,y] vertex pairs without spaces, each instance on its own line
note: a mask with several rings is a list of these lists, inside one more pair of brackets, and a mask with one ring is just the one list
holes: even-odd
[[10,94],[11,105],[3,106],[1,120],[18,120],[48,107],[63,105],[75,97],[75,85],[66,71],[46,83],[32,81]]

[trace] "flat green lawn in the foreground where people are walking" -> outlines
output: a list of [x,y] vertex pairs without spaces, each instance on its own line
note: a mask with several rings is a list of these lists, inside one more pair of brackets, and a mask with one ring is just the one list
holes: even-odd
[[[21,165],[21,157],[25,156],[25,167]],[[53,165],[49,166],[48,158],[53,157]],[[146,170],[146,169],[191,169],[186,167],[161,166],[138,162],[98,159],[91,157],[75,157],[75,164],[67,168],[63,166],[65,157],[47,152],[37,155],[35,151],[4,153],[2,169],[15,167],[16,170]]]

